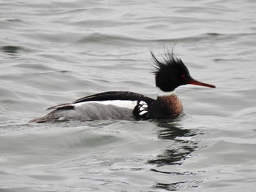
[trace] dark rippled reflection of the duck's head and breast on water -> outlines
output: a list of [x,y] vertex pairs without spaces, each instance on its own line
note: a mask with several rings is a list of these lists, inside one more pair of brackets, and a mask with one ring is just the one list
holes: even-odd
[[[194,172],[170,172],[165,169],[159,170],[159,167],[163,166],[177,166],[184,164],[184,161],[187,158],[191,158],[192,152],[198,149],[198,141],[195,139],[191,139],[191,137],[195,137],[198,134],[203,134],[199,129],[187,129],[180,125],[178,120],[174,120],[172,122],[161,121],[156,122],[159,127],[158,138],[170,140],[170,146],[165,148],[162,154],[157,155],[156,158],[148,161],[148,164],[156,164],[157,167],[155,169],[151,169],[152,172],[156,172],[158,174],[170,174],[181,176],[181,181],[177,183],[156,183],[154,188],[162,188],[167,191],[176,191],[178,188],[195,188],[198,183],[202,181],[190,180],[188,181],[188,177],[193,177],[198,173]],[[184,176],[184,177],[182,177]]]

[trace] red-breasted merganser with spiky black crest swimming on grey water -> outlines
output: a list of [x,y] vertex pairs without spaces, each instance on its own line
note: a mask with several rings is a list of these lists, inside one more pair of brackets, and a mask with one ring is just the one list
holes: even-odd
[[147,120],[175,118],[183,112],[181,101],[174,90],[180,85],[200,85],[215,88],[214,85],[194,80],[187,67],[167,51],[163,61],[151,52],[154,61],[154,75],[159,89],[157,99],[151,99],[129,91],[110,91],[86,96],[72,103],[49,107],[53,110],[42,118],[31,122],[43,123],[55,120]]

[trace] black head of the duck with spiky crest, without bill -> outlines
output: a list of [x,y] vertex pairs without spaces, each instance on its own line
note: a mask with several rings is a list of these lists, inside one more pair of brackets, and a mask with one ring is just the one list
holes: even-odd
[[173,50],[165,49],[163,61],[159,61],[151,51],[154,62],[154,74],[156,86],[162,91],[173,91],[180,85],[186,85],[187,79],[191,78],[187,66],[173,54]]

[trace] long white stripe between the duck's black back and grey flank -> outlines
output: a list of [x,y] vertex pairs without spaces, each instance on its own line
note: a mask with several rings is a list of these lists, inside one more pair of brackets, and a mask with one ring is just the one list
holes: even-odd
[[105,105],[115,105],[117,107],[125,107],[128,109],[134,109],[137,105],[138,101],[128,101],[128,100],[108,100],[108,101],[86,101],[86,102],[80,102],[77,104],[72,104],[74,106],[79,106],[83,104],[105,104]]

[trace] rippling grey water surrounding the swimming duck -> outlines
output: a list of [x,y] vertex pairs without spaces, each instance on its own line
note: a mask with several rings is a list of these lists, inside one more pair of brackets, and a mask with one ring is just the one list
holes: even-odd
[[[1,1],[0,191],[254,191],[254,1]],[[103,91],[155,97],[163,47],[217,89],[176,120],[29,124]]]

